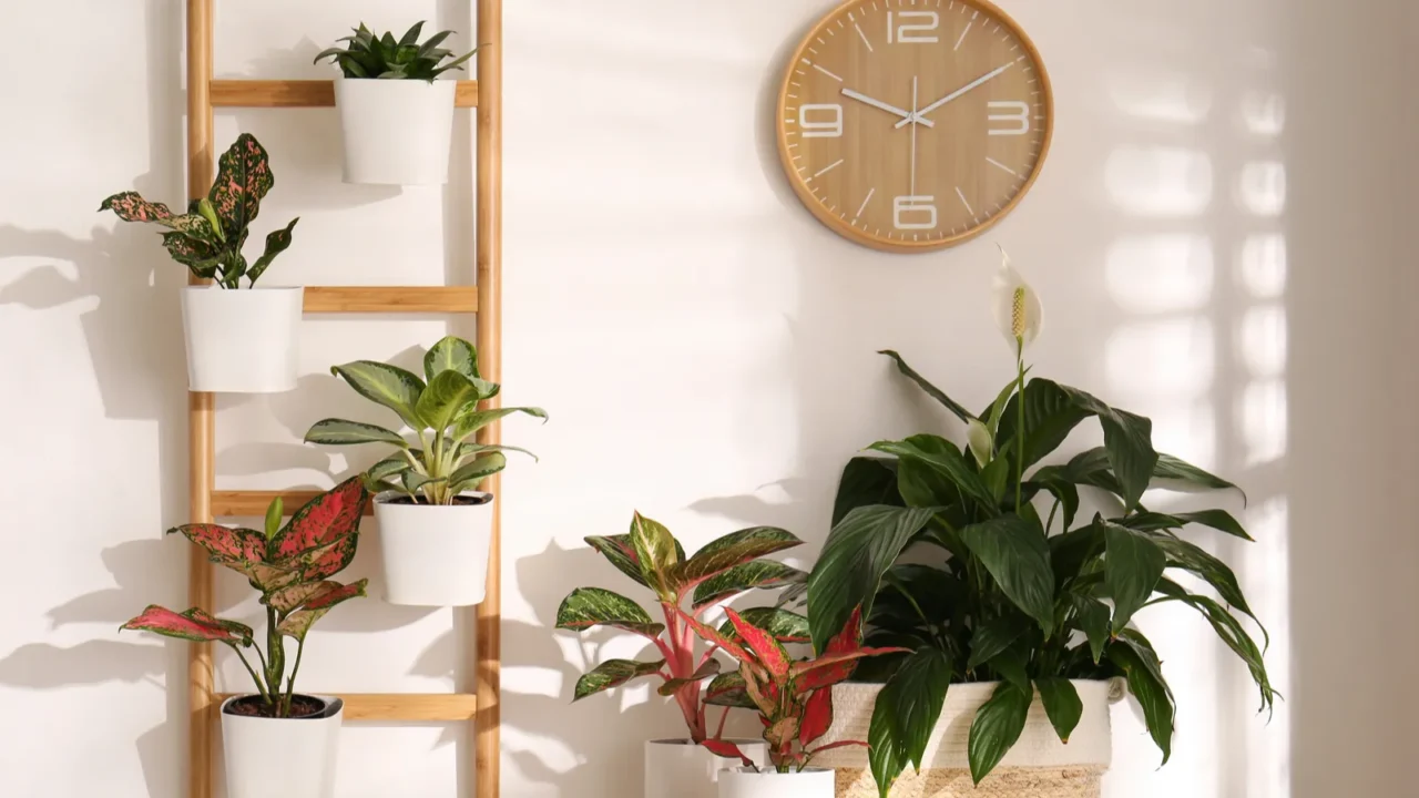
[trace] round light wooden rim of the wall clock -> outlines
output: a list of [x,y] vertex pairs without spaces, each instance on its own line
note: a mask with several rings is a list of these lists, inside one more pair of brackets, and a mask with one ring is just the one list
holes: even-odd
[[[844,0],[844,3],[829,11],[819,23],[816,23],[812,27],[812,30],[807,31],[807,34],[803,37],[799,45],[793,50],[790,60],[786,62],[783,68],[783,80],[779,87],[779,97],[776,104],[775,131],[778,139],[779,160],[783,165],[783,170],[785,175],[788,176],[789,185],[793,187],[793,192],[809,209],[809,212],[812,212],[813,216],[817,217],[817,220],[822,222],[826,227],[829,227],[839,236],[849,239],[850,241],[888,253],[929,253],[964,244],[972,239],[985,234],[988,230],[993,229],[1000,220],[1007,217],[1016,209],[1016,206],[1019,206],[1020,200],[1023,200],[1025,196],[1029,195],[1030,189],[1034,187],[1034,182],[1044,170],[1044,163],[1050,153],[1050,145],[1053,143],[1054,139],[1054,91],[1050,82],[1050,75],[1044,68],[1044,60],[1040,57],[1039,48],[1034,45],[1034,41],[1025,31],[1025,28],[1010,14],[1007,14],[1003,9],[1000,9],[990,0],[920,0],[920,1],[876,0],[876,3],[881,3],[887,9],[900,7],[901,10],[915,10],[915,9],[934,10],[937,7],[946,10],[948,6],[952,9],[955,6],[966,6],[969,9],[975,9],[979,13],[986,14],[988,17],[993,17],[995,20],[998,20],[1005,28],[1010,31],[1013,37],[1019,40],[1020,45],[1025,50],[1025,54],[1030,58],[1033,68],[1039,74],[1039,92],[1040,92],[1039,102],[1043,106],[1044,124],[1043,124],[1043,138],[1040,142],[1039,158],[1036,159],[1030,175],[1025,179],[1025,183],[1009,199],[1009,202],[1006,202],[1002,206],[1002,210],[999,210],[993,216],[982,220],[979,224],[969,227],[968,230],[959,234],[948,234],[944,239],[932,239],[927,241],[907,240],[905,237],[893,239],[888,236],[874,234],[868,230],[854,227],[841,214],[836,214],[832,210],[829,210],[829,207],[824,206],[824,203],[820,202],[819,197],[813,195],[807,182],[799,175],[797,169],[793,165],[793,153],[790,152],[790,143],[793,143],[790,142],[792,122],[788,121],[792,118],[790,116],[792,108],[796,106],[799,102],[792,97],[795,91],[793,89],[793,78],[796,74],[795,71],[799,68],[799,64],[805,62],[809,51],[813,50],[815,43],[823,41],[822,37],[829,31],[830,27],[834,26],[841,27],[840,20],[847,17],[853,10],[861,7],[864,3],[870,1],[871,0]],[[876,6],[876,3],[873,4]],[[986,133],[982,132],[981,135],[985,136]]]

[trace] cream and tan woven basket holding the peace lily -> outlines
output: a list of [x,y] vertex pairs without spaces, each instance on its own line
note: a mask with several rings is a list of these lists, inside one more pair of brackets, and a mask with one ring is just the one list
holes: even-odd
[[[1098,798],[1104,772],[1112,761],[1108,704],[1122,699],[1122,684],[1074,682],[1084,714],[1069,745],[1060,743],[1044,707],[1036,700],[1020,741],[981,787],[973,787],[966,743],[976,711],[995,687],[995,683],[951,686],[941,720],[927,744],[921,772],[908,767],[893,785],[893,798]],[[880,692],[881,684],[833,687],[833,727],[820,743],[867,740]],[[813,764],[837,771],[837,798],[877,798],[866,750],[836,748]]]

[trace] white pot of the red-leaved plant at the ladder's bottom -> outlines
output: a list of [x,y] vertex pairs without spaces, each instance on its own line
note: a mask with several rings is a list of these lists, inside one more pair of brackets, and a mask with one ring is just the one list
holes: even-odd
[[238,714],[233,704],[261,701],[233,696],[221,703],[221,750],[226,754],[227,798],[335,798],[345,701],[297,696],[322,709],[305,717]]

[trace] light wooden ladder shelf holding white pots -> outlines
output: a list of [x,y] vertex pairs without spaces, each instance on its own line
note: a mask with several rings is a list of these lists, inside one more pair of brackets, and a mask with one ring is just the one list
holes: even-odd
[[[213,1],[187,0],[187,187],[206,196],[214,172],[214,108],[315,108],[335,105],[332,81],[213,80]],[[474,0],[478,9],[477,81],[458,81],[457,105],[478,109],[477,156],[477,285],[475,287],[308,287],[305,312],[438,312],[477,314],[478,366],[499,382],[502,373],[502,0]],[[194,281],[196,283],[196,281]],[[268,491],[219,491],[214,467],[214,400],[187,395],[190,520],[260,517],[278,496]],[[497,406],[491,399],[490,406]],[[499,425],[480,433],[480,443],[498,443]],[[484,490],[498,491],[494,476]],[[311,491],[282,491],[285,507],[309,501]],[[346,694],[346,720],[473,721],[474,798],[498,798],[498,731],[501,692],[501,531],[494,505],[488,595],[475,611],[477,657],[474,693]],[[211,606],[213,567],[193,548],[187,594],[193,606]],[[189,798],[213,795],[213,728],[226,697],[213,692],[211,643],[192,643],[187,659],[190,701]]]

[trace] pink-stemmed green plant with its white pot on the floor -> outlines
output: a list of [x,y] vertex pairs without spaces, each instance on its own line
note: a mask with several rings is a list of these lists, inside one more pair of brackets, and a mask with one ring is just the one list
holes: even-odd
[[[717,676],[721,663],[715,647],[697,645],[695,625],[707,612],[752,589],[802,586],[806,574],[763,557],[800,545],[793,534],[773,527],[751,527],[724,535],[694,557],[685,557],[680,541],[663,524],[634,515],[624,535],[589,537],[617,571],[656,594],[661,622],[634,601],[602,588],[578,588],[556,612],[558,629],[585,630],[609,626],[648,639],[658,659],[603,662],[576,682],[575,699],[620,687],[634,679],[658,677],[660,694],[673,697],[685,718],[690,737],[646,743],[646,798],[715,798],[721,770],[734,764],[735,751],[763,763],[762,743],[734,741],[715,747],[729,714],[725,706],[718,723],[707,717],[704,683]],[[688,605],[688,609],[685,609]],[[745,615],[771,629],[779,640],[807,642],[807,619],[788,609],[751,609]],[[702,744],[710,747],[702,747]],[[728,743],[728,741],[725,741]]]

